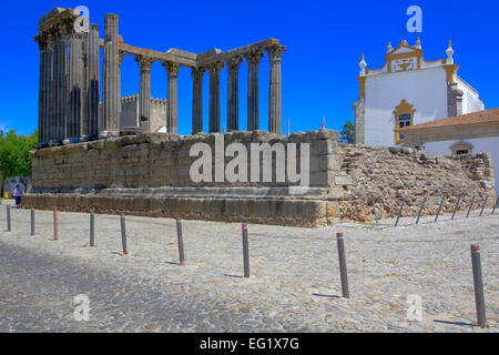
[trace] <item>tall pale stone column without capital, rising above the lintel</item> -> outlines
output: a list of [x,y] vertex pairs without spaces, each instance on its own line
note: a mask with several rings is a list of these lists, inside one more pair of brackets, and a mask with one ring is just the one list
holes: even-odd
[[119,16],[104,17],[104,72],[103,115],[100,138],[116,136],[120,132],[120,53],[118,34]]

